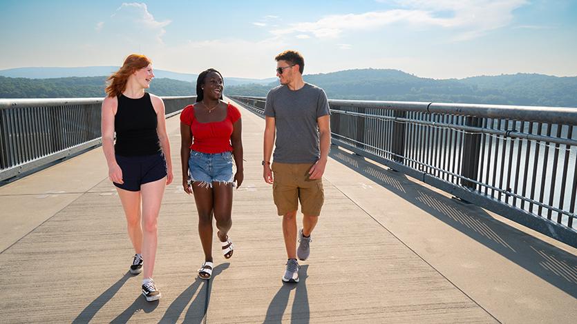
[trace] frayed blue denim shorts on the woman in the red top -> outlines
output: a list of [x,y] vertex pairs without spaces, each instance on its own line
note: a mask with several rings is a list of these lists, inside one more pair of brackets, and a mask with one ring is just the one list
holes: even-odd
[[232,183],[232,152],[202,153],[190,151],[189,177],[192,182],[212,188],[212,183]]

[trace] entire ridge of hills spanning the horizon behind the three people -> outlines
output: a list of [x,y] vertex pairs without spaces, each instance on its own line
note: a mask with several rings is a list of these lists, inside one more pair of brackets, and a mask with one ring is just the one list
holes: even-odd
[[[108,66],[0,70],[0,98],[104,97],[106,76],[116,69]],[[102,74],[88,76],[93,73]],[[70,77],[70,74],[79,76]],[[25,75],[28,78],[23,77]],[[41,78],[52,75],[64,77]],[[196,74],[155,70],[155,76],[150,89],[154,94],[195,94]],[[305,74],[303,78],[323,88],[329,99],[577,107],[577,77],[518,73],[428,79],[400,70],[368,68]],[[276,78],[225,77],[225,94],[265,96],[278,84]]]

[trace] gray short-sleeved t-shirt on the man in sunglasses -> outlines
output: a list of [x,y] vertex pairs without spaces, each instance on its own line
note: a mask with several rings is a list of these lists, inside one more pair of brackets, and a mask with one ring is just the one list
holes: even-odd
[[314,163],[319,160],[319,127],[316,119],[330,114],[325,91],[310,83],[292,91],[279,85],[267,94],[265,116],[274,117],[275,162]]

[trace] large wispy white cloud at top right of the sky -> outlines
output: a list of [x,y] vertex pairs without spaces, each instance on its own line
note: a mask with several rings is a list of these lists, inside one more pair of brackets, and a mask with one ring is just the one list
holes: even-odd
[[[388,1],[390,2],[390,1]],[[318,21],[292,23],[286,28],[271,30],[281,36],[310,33],[319,39],[334,39],[343,32],[375,30],[392,23],[413,26],[437,26],[455,30],[454,40],[478,37],[489,30],[507,26],[513,20],[513,10],[526,0],[404,0],[395,1],[400,8],[363,14],[339,14]],[[450,17],[447,16],[449,12]]]

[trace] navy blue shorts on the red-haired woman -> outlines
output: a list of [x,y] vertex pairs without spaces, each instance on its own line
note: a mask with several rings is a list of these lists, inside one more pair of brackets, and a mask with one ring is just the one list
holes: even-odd
[[157,181],[167,176],[167,161],[164,154],[144,156],[120,156],[116,155],[116,163],[122,170],[124,183],[114,183],[120,189],[140,191],[140,185]]

